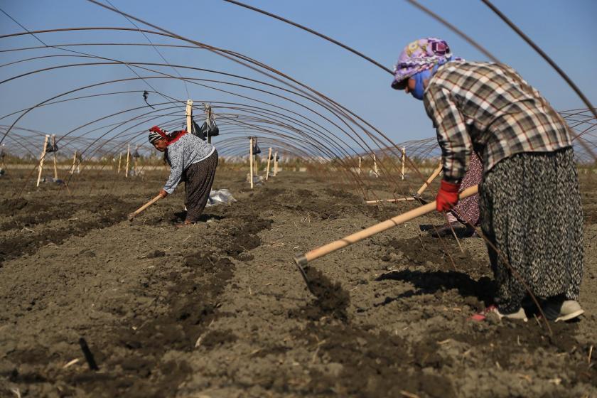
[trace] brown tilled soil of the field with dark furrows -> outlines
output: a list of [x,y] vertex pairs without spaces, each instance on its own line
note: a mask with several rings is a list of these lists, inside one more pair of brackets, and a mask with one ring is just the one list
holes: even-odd
[[306,289],[294,254],[415,203],[367,207],[289,171],[250,190],[244,173],[218,171],[233,205],[178,229],[179,188],[128,222],[165,178],[82,175],[72,194],[43,184],[20,197],[22,176],[0,180],[1,397],[597,396],[588,176],[586,316],[551,333],[537,317],[470,321],[493,295],[485,244],[420,231],[439,215],[316,260]]

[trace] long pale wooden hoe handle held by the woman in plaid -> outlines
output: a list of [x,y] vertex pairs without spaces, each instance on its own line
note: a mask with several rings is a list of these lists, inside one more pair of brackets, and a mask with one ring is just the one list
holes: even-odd
[[[461,192],[459,197],[461,199],[464,199],[468,198],[469,196],[475,195],[475,193],[478,193],[478,185],[466,188],[466,190],[463,190]],[[311,262],[314,259],[318,259],[319,257],[325,256],[326,254],[335,252],[336,250],[342,249],[343,247],[350,246],[350,244],[359,242],[360,240],[364,240],[365,238],[370,237],[372,235],[378,234],[385,230],[389,230],[389,228],[396,227],[397,225],[400,225],[403,222],[407,222],[413,220],[416,217],[420,217],[421,215],[431,213],[434,210],[436,210],[435,200],[431,203],[427,203],[426,205],[422,205],[419,208],[407,211],[407,213],[402,213],[401,215],[392,217],[389,220],[385,220],[383,222],[380,222],[379,224],[372,225],[371,227],[368,227],[365,230],[355,232],[353,235],[348,235],[347,237],[343,237],[340,240],[335,240],[334,242],[325,244],[322,247],[313,249],[311,250],[311,252],[306,252],[305,254],[298,254],[296,257],[294,257],[294,262],[296,262],[296,265],[298,265],[299,269],[302,269],[303,265],[306,265],[308,262]],[[301,273],[304,276],[304,271],[301,271]]]

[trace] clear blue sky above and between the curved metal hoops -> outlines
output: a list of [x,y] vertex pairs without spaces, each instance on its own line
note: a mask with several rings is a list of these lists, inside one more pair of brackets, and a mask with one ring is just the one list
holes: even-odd
[[[360,50],[392,68],[400,50],[415,38],[436,36],[446,39],[453,53],[468,60],[485,60],[483,54],[405,1],[274,1],[247,0],[248,4],[271,11],[297,23],[321,31],[338,41]],[[435,135],[426,117],[422,102],[389,88],[391,75],[367,61],[321,38],[300,31],[254,11],[242,9],[221,0],[198,1],[123,1],[112,0],[122,11],[151,21],[170,31],[194,40],[234,50],[291,75],[340,104],[348,107],[367,122],[382,130],[395,142],[422,139]],[[558,110],[584,107],[559,75],[521,38],[500,21],[480,1],[421,0],[449,22],[458,26],[478,43],[488,48],[502,62],[512,65],[525,79],[537,87]],[[597,1],[495,1],[495,5],[517,23],[539,44],[581,87],[591,102],[597,102]],[[2,0],[0,6],[29,30],[75,26],[123,26],[132,28],[122,16],[100,9],[83,0],[14,1]],[[4,14],[0,14],[0,34],[22,31]],[[138,42],[146,39],[138,32],[81,32],[41,35],[48,44],[90,42]],[[172,43],[152,38],[154,42]],[[0,48],[38,45],[31,36],[0,39]],[[119,60],[161,62],[151,48],[77,48],[87,53]],[[43,50],[45,54],[67,55],[60,50]],[[170,63],[214,68],[247,76],[257,76],[227,60],[202,50],[162,49]],[[0,53],[0,63],[9,63],[41,51]],[[37,68],[60,63],[89,62],[80,58],[47,58],[0,68],[5,79]],[[164,68],[163,71],[166,71]],[[171,70],[169,72],[172,73]],[[183,75],[208,77],[205,73],[179,70]],[[43,99],[102,79],[134,77],[122,65],[109,67],[69,68],[23,77],[0,88],[2,115],[29,107]],[[154,87],[177,98],[185,98],[181,82],[152,82]],[[146,90],[140,81],[127,82],[117,90]],[[191,85],[191,97],[203,100],[235,102],[230,95],[215,93],[205,87]],[[110,91],[104,89],[104,91]],[[97,91],[94,91],[97,92]],[[238,90],[238,92],[248,92]],[[237,98],[236,98],[237,99]],[[152,101],[160,100],[151,97]],[[68,106],[38,109],[24,117],[19,125],[60,134],[104,114],[127,107],[142,106],[140,96],[116,96],[93,101],[80,101]],[[295,109],[295,108],[292,108]],[[3,119],[0,124],[11,122]],[[93,134],[93,133],[90,133]]]

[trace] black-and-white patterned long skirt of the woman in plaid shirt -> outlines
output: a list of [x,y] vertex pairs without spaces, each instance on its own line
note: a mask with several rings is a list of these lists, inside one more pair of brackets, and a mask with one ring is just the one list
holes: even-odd
[[[571,148],[522,153],[497,163],[480,185],[483,234],[500,311],[539,298],[576,300],[583,275],[583,215]],[[512,273],[512,269],[515,273]]]

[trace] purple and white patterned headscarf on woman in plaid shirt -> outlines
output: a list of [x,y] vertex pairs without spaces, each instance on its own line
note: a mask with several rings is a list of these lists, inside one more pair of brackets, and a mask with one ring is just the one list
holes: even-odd
[[446,41],[440,38],[421,38],[413,41],[398,57],[398,62],[394,66],[392,88],[402,89],[409,77],[449,60],[452,60],[452,53]]

